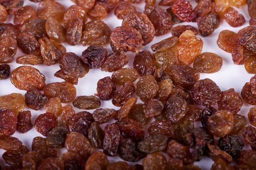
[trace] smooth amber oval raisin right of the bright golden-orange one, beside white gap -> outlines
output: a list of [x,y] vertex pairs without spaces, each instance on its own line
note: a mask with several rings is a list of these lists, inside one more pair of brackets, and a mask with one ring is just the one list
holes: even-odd
[[222,58],[212,52],[203,52],[193,63],[193,68],[201,73],[214,73],[222,67]]

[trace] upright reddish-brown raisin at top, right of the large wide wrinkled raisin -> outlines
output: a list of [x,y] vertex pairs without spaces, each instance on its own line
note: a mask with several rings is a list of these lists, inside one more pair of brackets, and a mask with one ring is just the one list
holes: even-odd
[[172,16],[159,6],[152,10],[148,18],[154,25],[157,36],[170,32],[173,27]]

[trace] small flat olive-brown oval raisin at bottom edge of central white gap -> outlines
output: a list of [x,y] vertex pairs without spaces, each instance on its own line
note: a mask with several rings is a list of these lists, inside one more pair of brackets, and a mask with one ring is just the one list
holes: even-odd
[[78,96],[72,103],[79,109],[97,109],[101,105],[100,100],[95,96]]

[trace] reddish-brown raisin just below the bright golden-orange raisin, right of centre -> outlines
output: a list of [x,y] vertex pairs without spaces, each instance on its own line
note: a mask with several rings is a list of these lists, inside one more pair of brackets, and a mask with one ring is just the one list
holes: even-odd
[[197,70],[186,65],[171,65],[169,71],[174,77],[174,82],[182,87],[193,86],[200,78]]

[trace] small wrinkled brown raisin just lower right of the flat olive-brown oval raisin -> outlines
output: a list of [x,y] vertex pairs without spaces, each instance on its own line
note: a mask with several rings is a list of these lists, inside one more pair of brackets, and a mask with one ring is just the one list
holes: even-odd
[[93,118],[99,124],[108,122],[115,115],[117,115],[117,111],[115,109],[108,108],[99,108],[93,112]]

